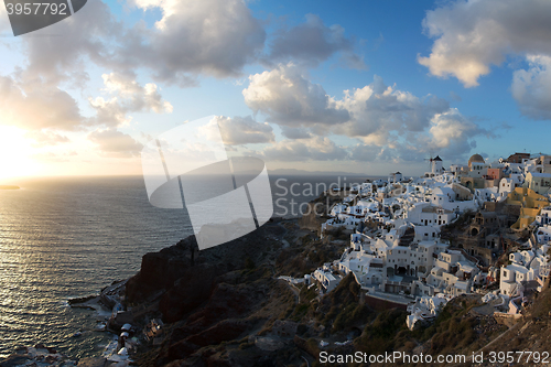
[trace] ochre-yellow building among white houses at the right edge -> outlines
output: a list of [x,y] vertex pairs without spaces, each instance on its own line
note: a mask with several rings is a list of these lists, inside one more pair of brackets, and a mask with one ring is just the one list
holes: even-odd
[[528,187],[517,187],[507,195],[507,204],[520,205],[520,216],[511,226],[512,229],[523,229],[536,220],[536,216],[541,209],[549,205],[545,196],[542,196]]

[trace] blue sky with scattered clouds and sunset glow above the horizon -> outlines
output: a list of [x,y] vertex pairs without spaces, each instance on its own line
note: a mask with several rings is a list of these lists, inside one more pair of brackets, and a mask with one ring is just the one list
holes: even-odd
[[207,116],[273,172],[549,153],[549,0],[89,0],[20,36],[0,7],[0,183],[139,175]]

